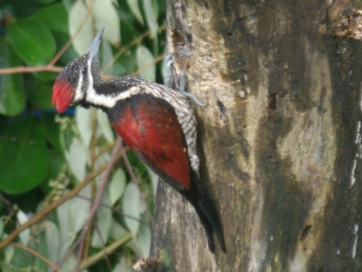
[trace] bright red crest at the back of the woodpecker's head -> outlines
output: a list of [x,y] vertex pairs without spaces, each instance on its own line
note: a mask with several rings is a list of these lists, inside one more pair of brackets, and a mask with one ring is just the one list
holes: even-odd
[[74,92],[74,87],[66,79],[62,77],[56,78],[53,87],[52,105],[55,105],[56,110],[59,112],[65,111],[72,103]]

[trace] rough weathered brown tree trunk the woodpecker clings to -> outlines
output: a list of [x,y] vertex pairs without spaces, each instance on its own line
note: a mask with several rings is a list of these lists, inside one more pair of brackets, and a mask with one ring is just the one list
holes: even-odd
[[362,46],[341,19],[359,29],[361,7],[331,2],[168,0],[228,250],[161,183],[150,256],[169,271],[361,271]]

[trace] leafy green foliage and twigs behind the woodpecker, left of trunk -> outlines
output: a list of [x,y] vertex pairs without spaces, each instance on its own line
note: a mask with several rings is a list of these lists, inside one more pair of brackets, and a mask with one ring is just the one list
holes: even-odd
[[102,26],[104,78],[162,82],[164,17],[164,0],[0,1],[0,237],[15,237],[0,249],[2,271],[121,272],[148,256],[157,176],[127,147],[104,172],[119,141],[107,116],[83,108],[59,115],[51,95],[62,67]]

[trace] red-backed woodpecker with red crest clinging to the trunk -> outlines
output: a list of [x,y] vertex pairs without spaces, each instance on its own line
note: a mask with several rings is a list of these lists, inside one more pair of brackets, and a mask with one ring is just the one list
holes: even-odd
[[87,53],[69,63],[56,78],[52,104],[100,108],[123,141],[162,180],[195,208],[214,253],[214,232],[226,252],[218,211],[200,185],[196,119],[185,95],[145,79],[123,76],[104,81],[98,50],[104,28]]

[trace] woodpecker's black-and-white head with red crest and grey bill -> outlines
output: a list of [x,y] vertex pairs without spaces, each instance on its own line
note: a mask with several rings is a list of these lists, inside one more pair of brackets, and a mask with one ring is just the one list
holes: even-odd
[[56,78],[52,104],[59,112],[79,104],[88,93],[94,92],[94,76],[99,78],[97,57],[103,32],[104,28],[98,32],[87,53],[69,63]]

